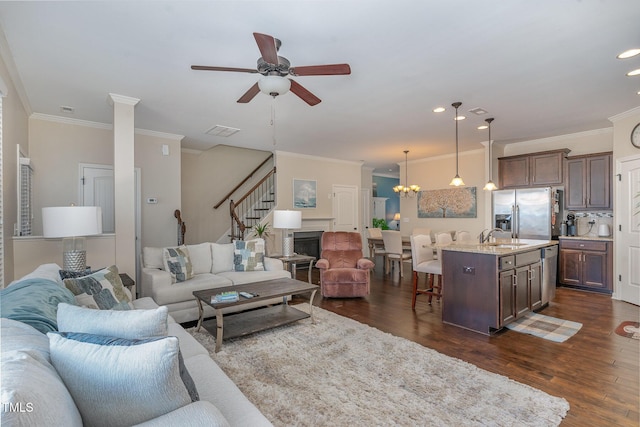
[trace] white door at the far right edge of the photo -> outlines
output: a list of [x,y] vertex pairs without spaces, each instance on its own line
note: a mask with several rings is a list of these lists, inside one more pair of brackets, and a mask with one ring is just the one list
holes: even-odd
[[616,293],[621,300],[640,305],[640,157],[618,160],[617,169]]

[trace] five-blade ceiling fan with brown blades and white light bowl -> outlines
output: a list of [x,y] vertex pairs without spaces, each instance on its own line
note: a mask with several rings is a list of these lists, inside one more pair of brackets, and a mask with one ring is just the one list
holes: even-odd
[[207,65],[192,65],[192,70],[204,71],[235,71],[239,73],[260,73],[262,77],[256,84],[251,86],[244,95],[238,99],[239,103],[251,101],[259,92],[266,93],[273,97],[283,95],[289,90],[298,95],[304,102],[314,106],[319,104],[320,98],[305,89],[300,83],[286,76],[332,76],[351,74],[349,64],[327,64],[308,65],[302,67],[292,67],[287,58],[278,56],[278,50],[282,44],[280,40],[260,33],[253,33],[258,49],[262,56],[258,58],[258,67],[233,68],[233,67],[212,67]]

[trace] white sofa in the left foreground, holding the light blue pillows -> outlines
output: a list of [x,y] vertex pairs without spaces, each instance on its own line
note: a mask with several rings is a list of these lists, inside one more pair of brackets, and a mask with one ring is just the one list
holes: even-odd
[[[59,269],[60,267],[55,264],[43,265],[28,275],[28,278],[44,279],[40,282],[40,286],[44,287],[42,283],[46,282],[45,284],[49,285],[48,289],[52,289],[56,286],[51,282],[56,280]],[[22,280],[13,282],[9,288]],[[64,287],[59,278],[57,282],[61,287]],[[39,286],[37,281],[31,281],[28,285],[32,284]],[[25,293],[28,295],[28,292]],[[70,298],[73,300],[72,294]],[[51,298],[50,302],[52,307],[57,310],[58,302],[64,301]],[[133,301],[133,305],[136,309],[158,308],[158,305],[151,298],[137,299]],[[3,305],[4,313],[0,313],[3,316],[0,319],[2,425],[83,425],[77,403],[61,379],[61,374],[54,368],[55,361],[52,361],[50,355],[48,336],[27,323],[5,318],[9,312],[20,313],[20,310],[13,311],[10,308]],[[105,311],[102,310],[102,312]],[[188,403],[140,425],[270,426],[271,423],[264,415],[209,357],[207,350],[171,316],[168,317],[167,322],[167,335],[175,336],[179,340],[184,365],[195,383],[199,401]],[[119,361],[119,363],[124,362],[126,360]],[[137,375],[132,375],[130,382],[122,384],[122,387],[126,389],[127,387],[141,386],[136,384],[139,381]],[[91,385],[89,384],[89,386]],[[106,404],[106,402],[102,404]],[[120,417],[129,416],[125,408],[117,406],[116,408]],[[108,419],[103,424],[111,425]]]

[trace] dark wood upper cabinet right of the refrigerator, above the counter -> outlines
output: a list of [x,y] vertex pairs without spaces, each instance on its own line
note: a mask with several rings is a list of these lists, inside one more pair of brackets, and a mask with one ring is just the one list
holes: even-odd
[[611,153],[567,158],[566,209],[611,209],[611,158]]

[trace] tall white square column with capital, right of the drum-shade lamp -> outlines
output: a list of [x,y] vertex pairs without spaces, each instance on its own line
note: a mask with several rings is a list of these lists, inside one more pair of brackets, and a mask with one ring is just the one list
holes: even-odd
[[113,106],[113,194],[115,206],[115,260],[120,273],[136,277],[136,222],[134,172],[134,108],[139,99],[109,94]]

